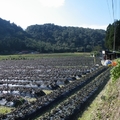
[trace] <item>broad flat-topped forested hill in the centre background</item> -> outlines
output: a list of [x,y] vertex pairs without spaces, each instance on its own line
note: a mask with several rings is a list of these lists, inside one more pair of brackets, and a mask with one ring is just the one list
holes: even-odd
[[54,52],[87,52],[104,47],[104,30],[44,24],[31,25],[26,32],[35,40],[47,43]]

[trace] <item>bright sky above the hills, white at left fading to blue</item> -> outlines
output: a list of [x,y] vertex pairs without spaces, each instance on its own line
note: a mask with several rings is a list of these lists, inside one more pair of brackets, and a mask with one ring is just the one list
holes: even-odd
[[106,30],[120,20],[120,0],[0,0],[0,18],[23,29],[52,23]]

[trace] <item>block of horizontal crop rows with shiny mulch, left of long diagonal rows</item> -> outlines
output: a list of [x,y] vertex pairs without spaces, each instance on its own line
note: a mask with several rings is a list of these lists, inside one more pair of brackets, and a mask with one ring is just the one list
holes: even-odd
[[42,90],[54,92],[96,69],[89,57],[0,61],[0,104],[13,96],[38,99],[45,95]]

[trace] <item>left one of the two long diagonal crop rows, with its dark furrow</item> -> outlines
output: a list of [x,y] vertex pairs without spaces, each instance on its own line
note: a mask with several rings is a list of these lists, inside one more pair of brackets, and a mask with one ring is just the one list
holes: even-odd
[[[73,91],[76,91],[78,88],[83,88],[83,86],[86,86],[89,82],[93,80],[93,78],[97,77],[97,75],[99,75],[105,70],[106,67],[100,67],[93,73],[86,75],[86,77],[81,78],[80,80],[75,80],[72,83],[63,86],[62,88],[58,88],[49,95],[39,97],[36,102],[32,102],[31,104],[26,102],[25,104],[17,108],[14,112],[2,116],[2,119],[30,119],[40,114],[42,111],[45,111],[45,109],[48,109],[49,106],[53,105],[55,102],[58,102],[59,100],[62,101],[65,98],[65,96],[72,94]],[[86,95],[84,95],[84,97],[85,96]]]

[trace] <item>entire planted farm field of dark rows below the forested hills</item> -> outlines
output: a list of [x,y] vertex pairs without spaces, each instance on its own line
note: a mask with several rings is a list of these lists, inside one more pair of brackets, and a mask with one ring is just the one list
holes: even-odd
[[0,106],[6,110],[0,119],[73,119],[108,76],[88,54],[2,56]]

